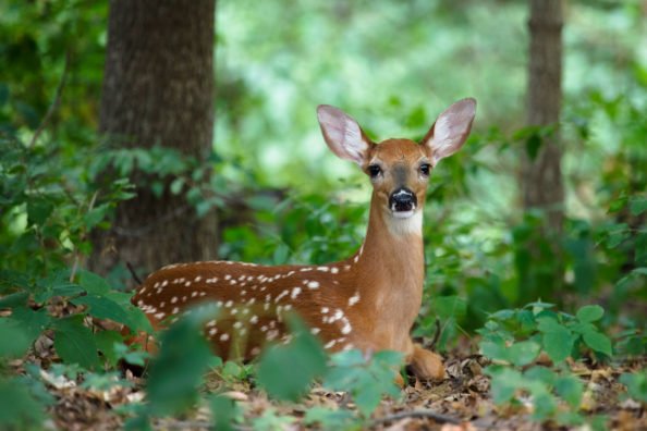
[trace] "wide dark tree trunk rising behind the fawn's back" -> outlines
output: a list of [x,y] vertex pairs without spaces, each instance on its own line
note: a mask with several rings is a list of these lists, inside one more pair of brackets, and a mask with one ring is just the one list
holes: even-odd
[[[199,161],[208,157],[213,35],[215,0],[110,1],[99,127],[113,146],[161,145]],[[215,212],[198,218],[183,194],[169,192],[172,178],[156,197],[147,178],[133,174],[136,198],[118,207],[110,231],[95,234],[95,271],[125,262],[151,271],[216,256]]]

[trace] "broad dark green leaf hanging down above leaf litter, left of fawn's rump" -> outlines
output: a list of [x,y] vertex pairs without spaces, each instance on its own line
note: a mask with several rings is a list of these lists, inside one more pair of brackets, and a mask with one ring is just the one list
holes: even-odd
[[97,344],[89,329],[83,324],[83,316],[76,315],[53,321],[54,348],[66,364],[83,368],[99,367]]

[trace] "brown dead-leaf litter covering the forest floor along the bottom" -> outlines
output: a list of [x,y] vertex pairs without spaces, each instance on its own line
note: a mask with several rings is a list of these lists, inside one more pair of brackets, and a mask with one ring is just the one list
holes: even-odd
[[[465,352],[461,353],[463,349]],[[565,429],[554,423],[538,423],[532,420],[532,399],[516,406],[496,406],[490,396],[490,380],[483,373],[487,360],[478,355],[469,355],[468,348],[456,348],[445,359],[447,373],[442,382],[424,383],[410,379],[402,390],[400,399],[382,399],[371,419],[363,422],[363,429],[376,430],[545,430]],[[12,365],[16,372],[24,371],[24,365],[33,361],[47,368],[56,361],[52,342],[42,334],[30,355]],[[582,361],[570,362],[573,373],[585,383],[582,402],[584,416],[605,417],[608,429],[647,430],[647,412],[639,403],[622,401],[624,386],[618,382],[622,372],[645,366],[647,360],[634,360],[631,364],[614,365],[613,368],[597,364],[585,365]],[[41,371],[48,392],[56,399],[50,407],[48,429],[59,430],[113,430],[124,424],[127,406],[145,398],[143,380],[125,373],[130,387],[122,385],[100,391],[80,385],[80,380],[54,377]],[[209,375],[205,391],[227,391],[227,396],[235,399],[242,407],[245,423],[252,423],[268,410],[276,417],[283,418],[279,428],[300,430],[306,427],[305,414],[315,406],[328,409],[354,409],[350,397],[344,393],[334,393],[315,385],[309,394],[298,404],[277,403],[253,386],[248,380],[223,381],[217,375]],[[522,398],[523,399],[523,398]],[[207,406],[197,407],[182,418],[156,419],[155,429],[204,430],[210,427],[210,412]],[[253,429],[241,426],[235,429]],[[317,429],[315,427],[314,429]],[[320,428],[319,428],[320,429]],[[354,429],[357,429],[355,427]],[[578,429],[594,429],[588,426]]]

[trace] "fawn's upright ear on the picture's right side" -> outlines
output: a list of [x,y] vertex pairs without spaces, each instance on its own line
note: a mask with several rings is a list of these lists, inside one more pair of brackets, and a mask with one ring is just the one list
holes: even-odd
[[476,100],[468,98],[459,100],[438,116],[422,141],[431,151],[434,164],[461,149],[475,114]]

